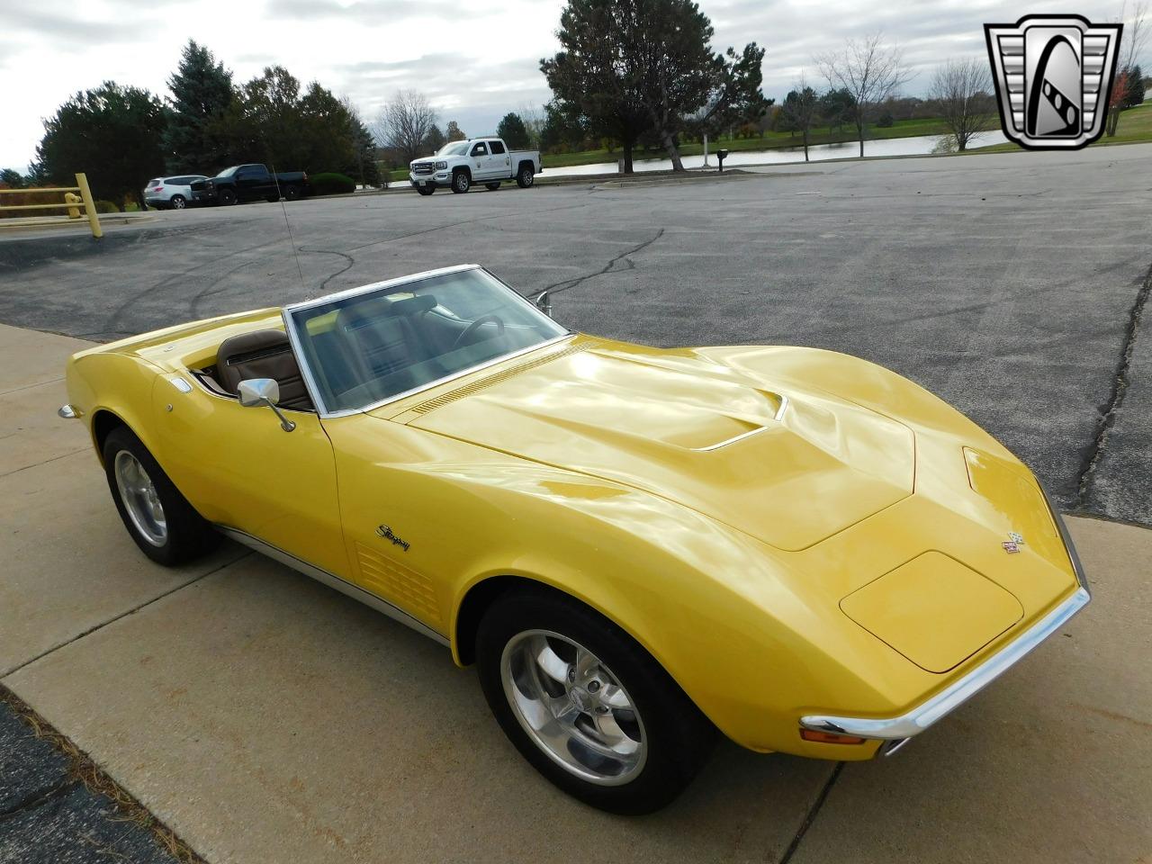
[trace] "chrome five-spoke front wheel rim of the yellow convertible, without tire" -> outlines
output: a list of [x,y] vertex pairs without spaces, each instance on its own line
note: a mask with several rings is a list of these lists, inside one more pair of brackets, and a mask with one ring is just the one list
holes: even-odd
[[500,676],[529,737],[571,774],[620,786],[644,768],[644,722],[616,676],[583,645],[525,630],[505,646]]

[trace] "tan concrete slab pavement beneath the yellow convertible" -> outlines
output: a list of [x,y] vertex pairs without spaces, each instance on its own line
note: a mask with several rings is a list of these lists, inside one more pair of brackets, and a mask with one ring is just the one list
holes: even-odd
[[1092,605],[897,757],[725,745],[668,810],[611,817],[540,780],[432,642],[234,546],[180,571],[144,559],[83,430],[55,417],[83,344],[0,326],[0,682],[211,862],[1152,850],[1152,532],[1070,520]]

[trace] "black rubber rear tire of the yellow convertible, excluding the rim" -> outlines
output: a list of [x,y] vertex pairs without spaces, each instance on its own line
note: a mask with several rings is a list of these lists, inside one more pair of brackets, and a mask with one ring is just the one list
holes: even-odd
[[[162,543],[153,543],[129,515],[116,478],[116,460],[121,453],[130,454],[152,482],[156,497],[164,511],[166,531]],[[157,563],[175,567],[207,554],[220,541],[220,535],[180,494],[168,475],[152,457],[143,442],[127,426],[119,426],[104,441],[104,470],[108,479],[108,491],[116,505],[116,511],[128,529],[128,533],[141,552]]]

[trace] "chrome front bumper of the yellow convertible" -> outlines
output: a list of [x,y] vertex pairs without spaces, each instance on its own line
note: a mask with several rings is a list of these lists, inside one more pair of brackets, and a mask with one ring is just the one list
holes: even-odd
[[[877,719],[809,714],[801,718],[801,727],[814,732],[855,735],[862,738],[879,738],[882,741],[903,741],[914,735],[919,735],[940,718],[955,711],[1000,677],[1041,642],[1052,636],[1073,615],[1084,608],[1092,598],[1087,588],[1087,579],[1084,577],[1084,568],[1081,566],[1079,556],[1076,554],[1076,546],[1073,544],[1063,518],[1061,518],[1055,507],[1053,507],[1052,500],[1047,498],[1047,494],[1045,494],[1045,499],[1047,500],[1052,518],[1064,541],[1064,547],[1068,550],[1068,558],[1071,561],[1073,570],[1076,573],[1076,581],[1079,584],[1070,597],[1062,600],[1016,639],[967,675],[900,717]],[[887,755],[894,752],[896,746],[882,746],[881,752]]]

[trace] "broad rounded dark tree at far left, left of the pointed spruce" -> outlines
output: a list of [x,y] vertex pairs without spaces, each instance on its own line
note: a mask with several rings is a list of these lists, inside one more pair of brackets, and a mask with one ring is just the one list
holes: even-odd
[[36,149],[38,170],[59,185],[74,185],[85,172],[97,198],[121,205],[149,177],[164,174],[165,109],[146,90],[106,81],[76,93],[44,121]]

